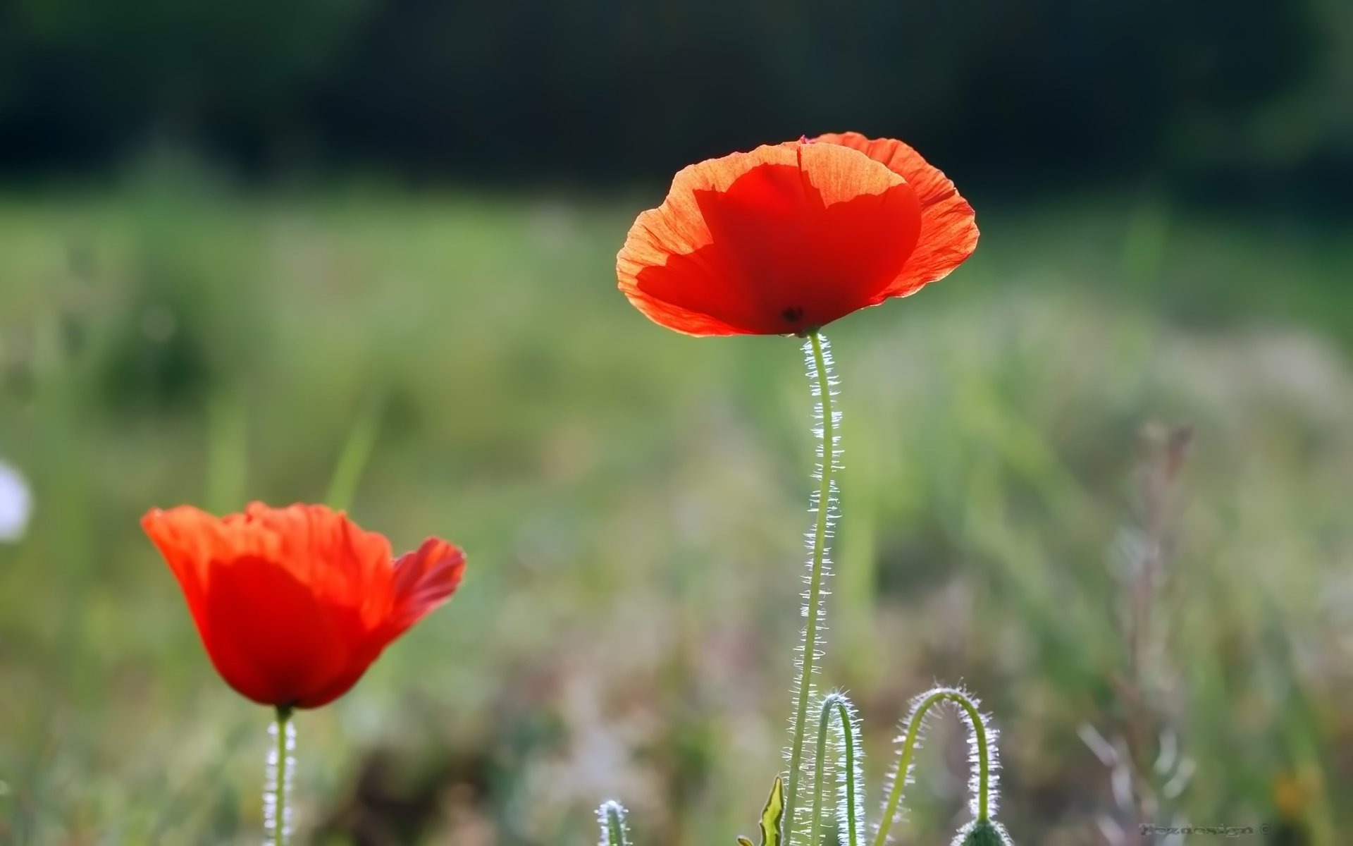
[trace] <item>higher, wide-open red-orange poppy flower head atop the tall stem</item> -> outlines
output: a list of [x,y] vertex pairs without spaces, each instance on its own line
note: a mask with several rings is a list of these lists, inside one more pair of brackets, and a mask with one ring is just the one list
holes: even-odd
[[901,141],[858,133],[690,165],[639,215],[620,290],[686,334],[800,334],[942,279],[973,207]]

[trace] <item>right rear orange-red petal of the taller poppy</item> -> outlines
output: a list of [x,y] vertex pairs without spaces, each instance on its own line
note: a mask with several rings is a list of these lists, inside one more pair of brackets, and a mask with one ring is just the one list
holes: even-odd
[[907,296],[947,276],[977,249],[973,207],[954,183],[920,153],[894,138],[866,138],[859,133],[828,133],[817,141],[859,150],[882,162],[916,190],[921,204],[921,229],[916,249],[888,288],[889,296]]

